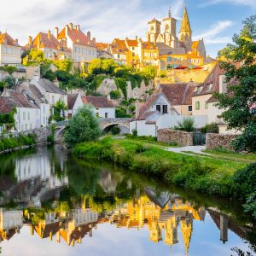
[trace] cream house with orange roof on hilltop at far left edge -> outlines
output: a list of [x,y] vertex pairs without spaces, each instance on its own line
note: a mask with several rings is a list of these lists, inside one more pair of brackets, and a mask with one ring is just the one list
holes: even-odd
[[9,33],[0,32],[0,65],[20,64],[21,46]]

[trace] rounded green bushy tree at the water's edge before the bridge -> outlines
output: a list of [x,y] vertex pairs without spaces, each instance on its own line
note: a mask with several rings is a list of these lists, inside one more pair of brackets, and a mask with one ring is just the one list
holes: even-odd
[[65,141],[68,148],[73,148],[77,143],[96,141],[102,131],[93,108],[90,105],[80,108],[72,119],[70,119],[65,132]]

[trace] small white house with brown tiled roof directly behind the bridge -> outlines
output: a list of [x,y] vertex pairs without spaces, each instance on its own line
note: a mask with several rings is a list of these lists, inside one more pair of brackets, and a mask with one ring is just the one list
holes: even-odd
[[84,105],[91,104],[97,117],[105,119],[115,118],[115,108],[113,102],[104,96],[82,96]]

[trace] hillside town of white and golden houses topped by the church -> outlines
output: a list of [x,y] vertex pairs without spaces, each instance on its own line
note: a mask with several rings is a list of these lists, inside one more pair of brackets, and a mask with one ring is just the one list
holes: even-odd
[[[111,44],[98,43],[90,32],[83,32],[79,25],[64,26],[55,31],[38,32],[29,36],[25,46],[8,32],[0,36],[0,79],[15,80],[13,86],[3,86],[0,96],[0,114],[13,115],[12,125],[1,122],[0,131],[28,131],[39,129],[56,121],[71,119],[84,105],[90,104],[97,117],[114,119],[121,100],[111,97],[119,91],[122,100],[131,102],[130,131],[139,136],[157,137],[160,129],[173,128],[186,117],[195,119],[195,128],[218,124],[222,134],[227,125],[219,118],[221,110],[215,107],[213,93],[226,93],[229,84],[224,82],[224,71],[218,61],[207,55],[204,40],[192,41],[192,30],[186,6],[177,32],[177,20],[171,10],[163,20],[148,21],[146,39],[114,38]],[[40,65],[26,65],[28,53],[38,50],[50,61],[72,62],[72,70],[86,70],[93,60],[111,59],[118,65],[138,70],[155,67],[157,73],[149,84],[142,81],[134,88],[126,82],[127,97],[113,79],[102,79],[97,95],[87,95],[86,90],[65,90],[57,77],[45,79]],[[14,68],[13,73],[9,70]],[[51,65],[52,70],[57,67]],[[234,81],[235,83],[235,81]],[[72,84],[71,84],[72,85]],[[150,92],[148,94],[148,92]],[[59,117],[54,119],[56,104]],[[127,115],[128,116],[128,115]],[[120,116],[117,116],[120,117]],[[122,116],[121,116],[122,117]],[[125,117],[125,115],[124,115]],[[127,132],[127,130],[125,130]]]

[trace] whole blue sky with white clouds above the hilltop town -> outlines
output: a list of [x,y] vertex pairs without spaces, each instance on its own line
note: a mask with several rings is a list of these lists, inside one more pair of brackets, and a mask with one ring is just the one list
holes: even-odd
[[[145,39],[147,22],[162,20],[171,8],[177,32],[185,0],[1,0],[0,31],[21,45],[38,32],[54,32],[73,22],[90,31],[96,42],[113,38]],[[204,38],[207,54],[215,57],[241,30],[242,20],[256,14],[256,0],[186,0],[193,39]]]

